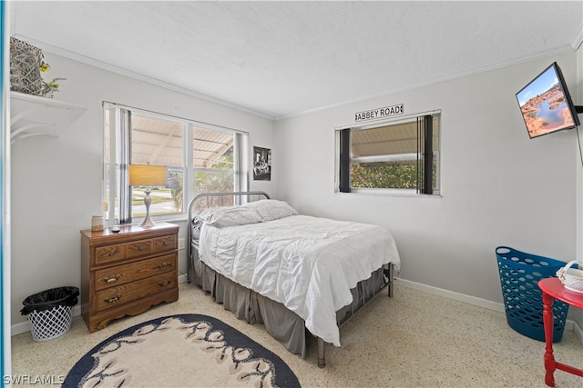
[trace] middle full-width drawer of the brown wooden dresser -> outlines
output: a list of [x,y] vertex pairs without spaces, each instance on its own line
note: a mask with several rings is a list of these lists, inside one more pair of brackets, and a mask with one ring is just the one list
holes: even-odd
[[166,254],[138,263],[97,270],[95,272],[95,289],[99,291],[174,270],[176,270],[176,254]]

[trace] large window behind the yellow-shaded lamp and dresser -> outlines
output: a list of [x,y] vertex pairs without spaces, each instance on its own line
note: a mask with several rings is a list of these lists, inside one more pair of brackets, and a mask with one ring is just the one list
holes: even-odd
[[146,214],[143,188],[128,184],[129,164],[167,167],[167,184],[151,188],[152,216],[184,214],[199,193],[247,190],[245,133],[110,103],[104,123],[104,198],[116,223]]

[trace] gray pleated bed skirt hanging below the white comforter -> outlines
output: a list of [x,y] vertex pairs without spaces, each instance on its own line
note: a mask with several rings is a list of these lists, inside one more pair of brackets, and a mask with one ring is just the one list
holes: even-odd
[[[194,253],[193,279],[204,291],[209,292],[217,303],[222,303],[224,308],[234,313],[238,319],[251,324],[263,324],[267,332],[288,351],[305,358],[306,338],[312,333],[306,330],[305,322],[298,314],[288,310],[283,304],[274,302],[216,273],[198,260],[198,254],[196,254],[198,251],[195,246],[192,246],[191,252]],[[353,303],[336,312],[338,325],[345,323],[375,294],[379,293],[388,284],[391,273],[389,268],[379,268],[371,274],[371,277],[357,284],[351,290]]]

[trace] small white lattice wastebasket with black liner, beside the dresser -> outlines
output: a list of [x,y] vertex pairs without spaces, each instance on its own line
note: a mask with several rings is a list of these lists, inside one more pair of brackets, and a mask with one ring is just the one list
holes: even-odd
[[28,315],[35,341],[52,340],[68,332],[78,295],[77,287],[58,287],[26,297],[20,313]]

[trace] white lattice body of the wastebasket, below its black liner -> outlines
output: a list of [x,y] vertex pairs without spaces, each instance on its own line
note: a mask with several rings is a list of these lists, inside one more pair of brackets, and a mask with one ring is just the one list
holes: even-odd
[[59,305],[49,310],[35,310],[28,314],[33,340],[36,342],[48,341],[68,332],[71,328],[72,310],[72,306]]

